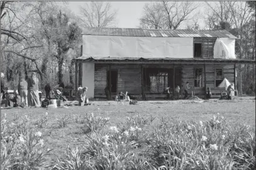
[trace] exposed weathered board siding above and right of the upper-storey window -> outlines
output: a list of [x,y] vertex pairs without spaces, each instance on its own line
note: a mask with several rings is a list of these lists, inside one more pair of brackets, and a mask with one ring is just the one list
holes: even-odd
[[202,43],[202,58],[213,59],[213,47],[216,42],[216,38],[194,38],[194,43]]

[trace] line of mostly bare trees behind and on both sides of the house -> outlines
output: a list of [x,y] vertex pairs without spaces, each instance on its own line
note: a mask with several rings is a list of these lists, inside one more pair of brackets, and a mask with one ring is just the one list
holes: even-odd
[[[73,86],[72,59],[80,55],[83,28],[117,26],[118,11],[108,2],[84,2],[78,14],[67,5],[1,1],[1,72],[11,88],[29,71],[38,72],[41,86],[61,81]],[[139,28],[228,30],[238,37],[237,58],[255,59],[255,1],[150,2]],[[240,92],[255,87],[255,65],[240,65],[237,74]]]

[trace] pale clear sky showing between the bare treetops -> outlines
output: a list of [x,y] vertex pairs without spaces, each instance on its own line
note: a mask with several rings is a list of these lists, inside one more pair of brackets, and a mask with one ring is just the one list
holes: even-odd
[[[74,13],[79,14],[79,7],[83,6],[84,1],[69,1],[67,7]],[[89,3],[89,2],[87,2]],[[139,18],[143,15],[143,6],[149,1],[109,1],[113,9],[118,9],[117,12],[117,27],[118,28],[138,28]],[[203,3],[201,1],[201,3]],[[202,11],[203,8],[199,8]],[[201,21],[201,27],[204,23]],[[183,29],[185,25],[181,25]]]

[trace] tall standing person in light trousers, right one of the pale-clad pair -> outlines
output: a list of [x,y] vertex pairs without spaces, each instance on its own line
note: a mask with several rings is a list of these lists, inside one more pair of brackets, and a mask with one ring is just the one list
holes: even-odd
[[28,78],[28,106],[40,107],[40,99],[38,94],[38,78],[35,72]]

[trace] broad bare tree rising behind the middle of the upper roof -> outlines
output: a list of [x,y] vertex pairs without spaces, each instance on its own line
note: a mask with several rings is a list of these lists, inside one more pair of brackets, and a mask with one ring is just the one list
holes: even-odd
[[184,1],[163,1],[145,4],[144,14],[140,18],[141,27],[176,30],[185,21],[192,20],[199,4]]

